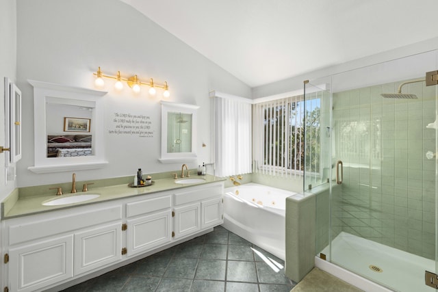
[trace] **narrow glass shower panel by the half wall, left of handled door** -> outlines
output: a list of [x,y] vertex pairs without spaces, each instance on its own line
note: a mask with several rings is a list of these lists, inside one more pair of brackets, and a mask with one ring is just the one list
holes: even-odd
[[316,250],[329,246],[332,98],[331,77],[304,82],[304,190],[316,198]]

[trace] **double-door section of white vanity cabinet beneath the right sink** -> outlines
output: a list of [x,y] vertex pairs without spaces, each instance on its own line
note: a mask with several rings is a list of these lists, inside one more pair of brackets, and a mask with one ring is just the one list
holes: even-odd
[[175,192],[175,239],[222,224],[222,194],[222,183]]

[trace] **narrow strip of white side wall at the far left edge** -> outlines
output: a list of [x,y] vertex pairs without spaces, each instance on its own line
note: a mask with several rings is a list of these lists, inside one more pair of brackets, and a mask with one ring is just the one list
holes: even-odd
[[[0,1],[0,146],[5,145],[5,88],[4,77],[8,77],[13,82],[16,81],[16,0]],[[5,156],[6,153],[0,154],[0,200],[10,194],[14,189],[16,182],[7,181],[5,184]]]

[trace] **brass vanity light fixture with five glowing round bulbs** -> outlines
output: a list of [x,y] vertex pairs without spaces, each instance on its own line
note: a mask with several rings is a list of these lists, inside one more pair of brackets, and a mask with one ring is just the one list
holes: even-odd
[[141,82],[140,79],[137,77],[137,75],[133,75],[128,78],[121,77],[120,71],[117,72],[117,76],[104,75],[103,72],[101,71],[101,67],[99,67],[97,71],[93,73],[93,75],[97,77],[96,80],[94,80],[94,84],[98,88],[103,88],[103,85],[105,85],[103,78],[109,78],[109,79],[116,79],[116,83],[114,84],[116,90],[122,90],[123,89],[122,81],[126,81],[129,87],[132,88],[133,92],[139,93],[141,90],[141,85],[146,85],[149,86],[149,94],[151,95],[156,94],[157,90],[155,88],[162,88],[164,89],[163,96],[166,98],[170,96],[167,81],[164,81],[164,85],[159,85],[157,83],[154,83],[152,78],[150,79],[149,83]]

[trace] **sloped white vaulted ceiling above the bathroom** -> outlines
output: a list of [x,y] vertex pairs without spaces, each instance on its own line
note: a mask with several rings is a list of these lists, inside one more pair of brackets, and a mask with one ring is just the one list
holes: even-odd
[[122,0],[251,88],[438,36],[437,0]]

